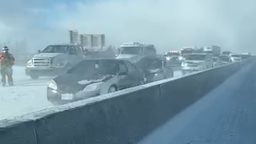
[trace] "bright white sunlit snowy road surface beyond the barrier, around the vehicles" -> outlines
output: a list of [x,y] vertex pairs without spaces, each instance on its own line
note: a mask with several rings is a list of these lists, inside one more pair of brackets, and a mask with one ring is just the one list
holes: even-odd
[[[25,67],[13,69],[15,86],[0,87],[0,120],[53,107],[46,98],[47,84],[52,77],[31,80],[25,76]],[[180,71],[174,72],[174,76],[180,75]]]

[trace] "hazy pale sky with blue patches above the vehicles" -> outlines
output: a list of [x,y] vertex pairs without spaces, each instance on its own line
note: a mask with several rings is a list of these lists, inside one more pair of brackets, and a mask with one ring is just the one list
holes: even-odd
[[107,45],[155,44],[159,53],[219,45],[256,53],[255,0],[0,0],[0,44],[29,51],[67,43],[68,30],[105,34]]

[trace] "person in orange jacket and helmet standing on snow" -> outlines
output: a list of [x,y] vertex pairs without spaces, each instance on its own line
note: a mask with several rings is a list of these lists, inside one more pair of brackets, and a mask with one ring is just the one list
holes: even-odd
[[13,69],[15,58],[9,53],[9,48],[4,46],[2,48],[2,53],[0,53],[0,72],[1,72],[1,82],[2,86],[6,85],[6,76],[8,77],[8,85],[13,86]]

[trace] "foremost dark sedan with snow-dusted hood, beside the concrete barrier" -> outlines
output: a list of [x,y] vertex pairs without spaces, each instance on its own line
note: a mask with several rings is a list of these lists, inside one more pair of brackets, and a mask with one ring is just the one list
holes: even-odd
[[51,80],[47,99],[59,105],[142,85],[144,73],[126,60],[83,60]]

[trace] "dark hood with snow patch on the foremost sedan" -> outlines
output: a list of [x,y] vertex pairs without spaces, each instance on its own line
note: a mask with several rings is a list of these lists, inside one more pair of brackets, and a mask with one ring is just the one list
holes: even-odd
[[112,77],[113,75],[78,76],[77,74],[63,74],[53,80],[57,83],[58,90],[61,93],[75,94],[90,84],[105,82]]

